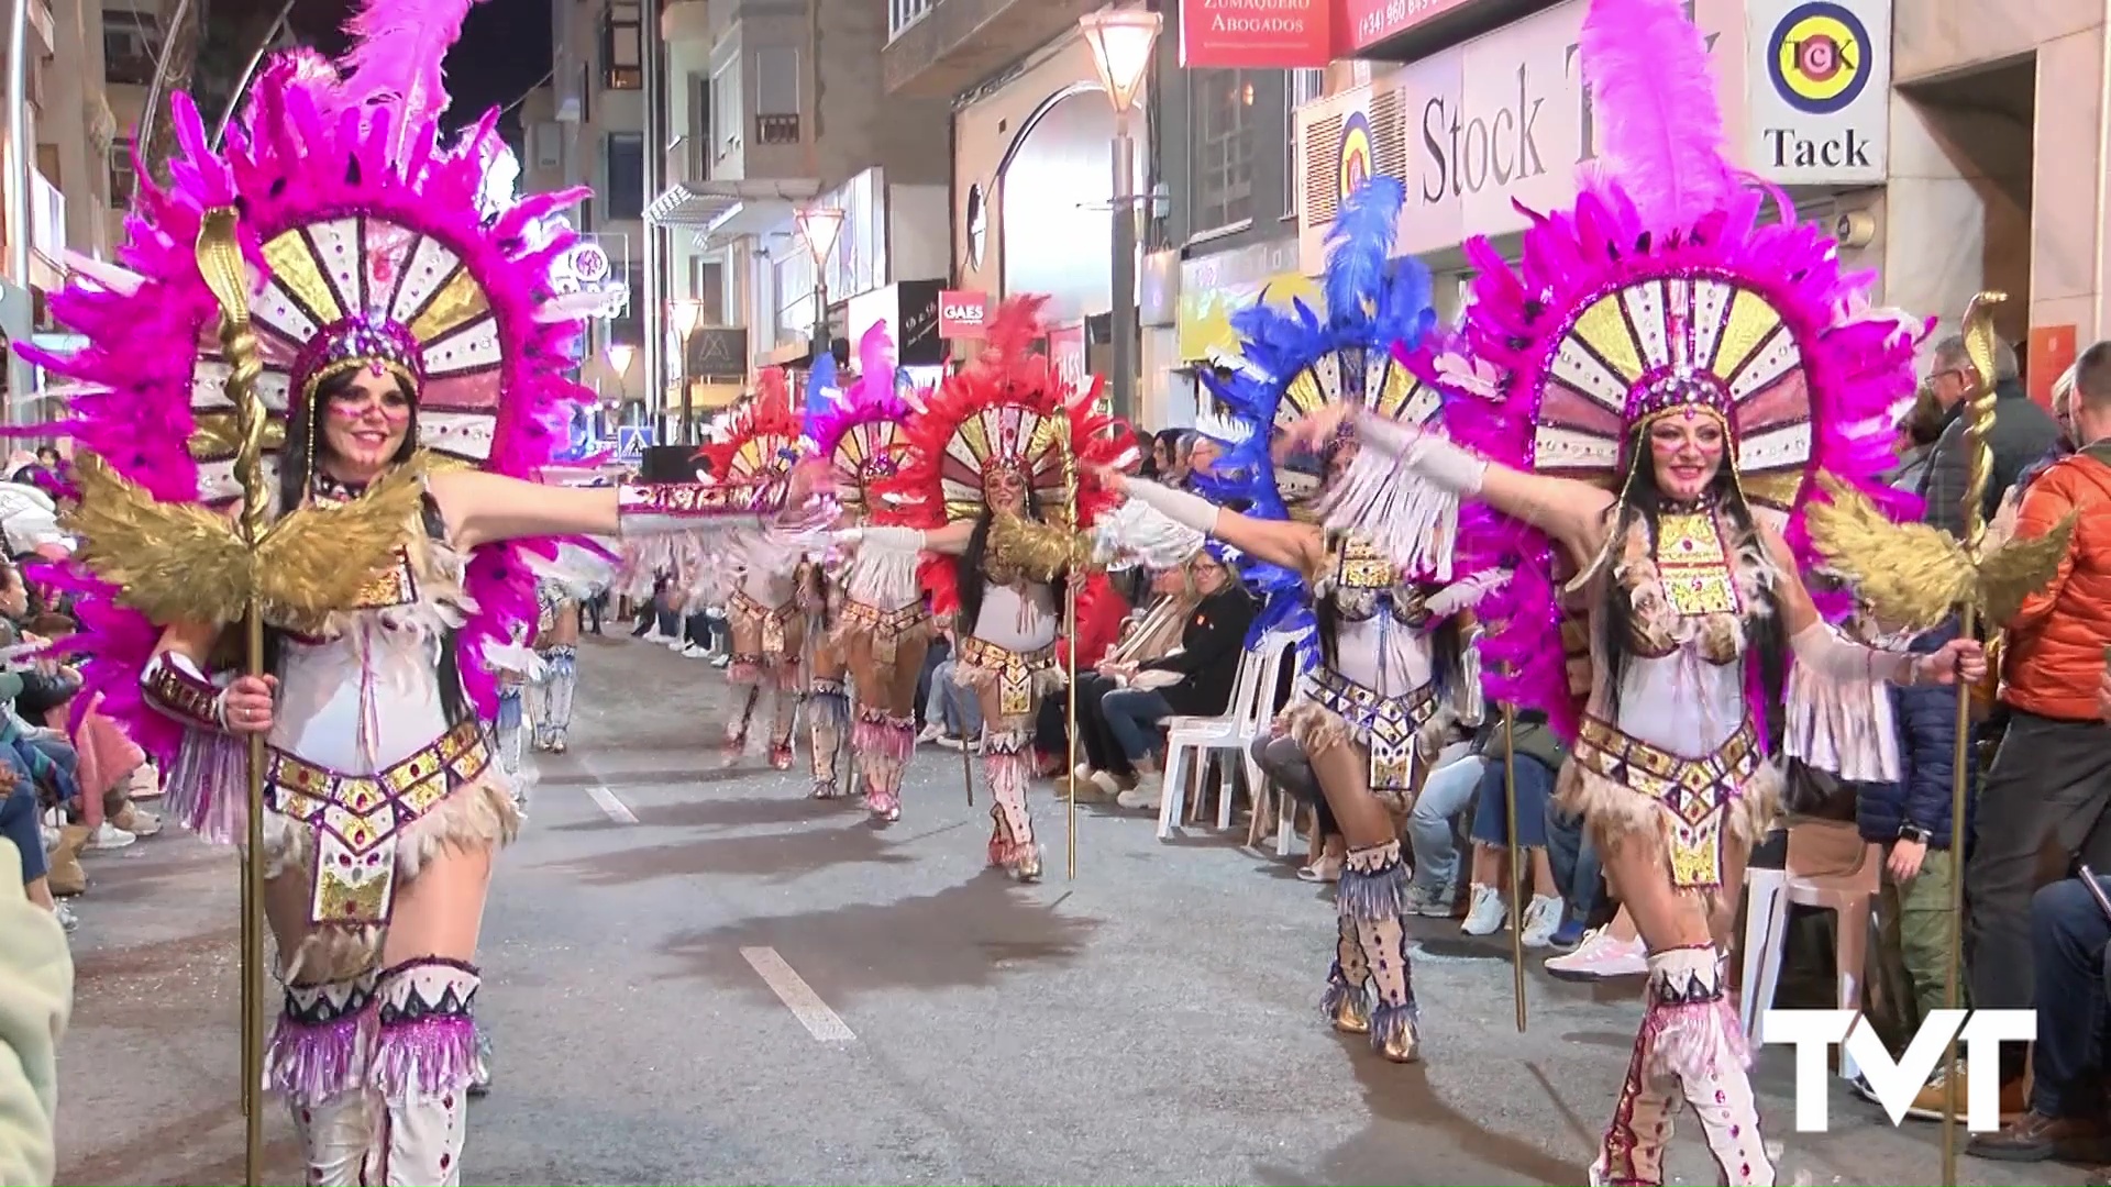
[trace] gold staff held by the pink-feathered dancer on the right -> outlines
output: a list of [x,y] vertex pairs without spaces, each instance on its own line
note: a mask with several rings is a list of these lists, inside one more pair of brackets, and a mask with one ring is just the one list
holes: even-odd
[[[1995,334],[1993,334],[1993,306],[2008,300],[2008,294],[1978,294],[1972,298],[1972,306],[1965,308],[1965,355],[1972,357],[1972,368],[1978,372],[1978,389],[1974,389],[1970,401],[1965,403],[1965,503],[1963,503],[1963,543],[1967,553],[1978,553],[1980,536],[1986,532],[1984,505],[1986,505],[1986,484],[1993,479],[1993,448],[1986,444],[1993,435],[1995,418]],[[1959,638],[1972,638],[1978,625],[1978,604],[1965,600],[1959,610],[1961,623],[1957,627]],[[1972,760],[1972,689],[1959,680],[1957,689],[1957,746],[1951,752],[1951,959],[1942,976],[1942,1005],[1948,1010],[1959,1010],[1963,1005],[1963,969],[1965,969],[1965,788],[1970,784]],[[1957,1109],[1961,1100],[1959,1077],[1957,1077],[1957,1035],[1951,1035],[1948,1048],[1944,1050],[1944,1077],[1942,1077],[1942,1187],[1957,1187]],[[1986,1075],[1982,1069],[1980,1075]]]

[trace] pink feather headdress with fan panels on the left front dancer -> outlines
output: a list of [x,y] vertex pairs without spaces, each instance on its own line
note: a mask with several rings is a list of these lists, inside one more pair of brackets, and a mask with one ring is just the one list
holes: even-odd
[[[572,408],[593,403],[568,378],[585,325],[551,287],[555,260],[576,241],[551,234],[551,218],[585,192],[509,201],[496,213],[479,205],[496,112],[454,144],[439,129],[441,59],[471,2],[369,0],[338,68],[296,51],[260,72],[224,150],[209,148],[192,101],[173,97],[179,150],[169,186],[141,173],[118,264],[80,264],[51,302],[87,346],[19,346],[72,391],[51,431],[160,501],[236,494],[217,306],[194,243],[209,209],[239,205],[255,279],[258,387],[274,416],[306,416],[306,389],[323,368],[401,368],[420,380],[420,446],[492,473],[540,475],[566,444]],[[477,610],[458,648],[481,714],[496,712],[496,684],[479,657],[534,621],[530,560],[557,543],[481,547],[469,562]],[[118,589],[82,572],[57,577],[80,596],[80,632],[65,642],[91,693],[78,703],[101,693],[103,712],[171,760],[179,731],[139,695],[158,632]]]

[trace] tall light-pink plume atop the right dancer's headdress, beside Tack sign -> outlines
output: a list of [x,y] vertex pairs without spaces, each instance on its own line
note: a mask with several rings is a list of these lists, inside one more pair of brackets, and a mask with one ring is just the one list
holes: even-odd
[[1598,154],[1642,226],[1672,230],[1727,205],[1708,42],[1678,0],[1592,0],[1577,42],[1598,110]]

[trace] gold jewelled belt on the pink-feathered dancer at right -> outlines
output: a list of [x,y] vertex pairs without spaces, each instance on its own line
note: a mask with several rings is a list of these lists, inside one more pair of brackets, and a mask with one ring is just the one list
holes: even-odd
[[1674,887],[1723,885],[1723,819],[1763,762],[1750,718],[1714,754],[1680,758],[1587,716],[1571,756],[1583,771],[1657,800],[1670,822],[1666,860]]

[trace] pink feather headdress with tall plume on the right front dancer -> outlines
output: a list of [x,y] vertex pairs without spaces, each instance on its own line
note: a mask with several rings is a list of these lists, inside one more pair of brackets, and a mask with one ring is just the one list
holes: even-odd
[[[1625,496],[1642,425],[1714,416],[1748,507],[1809,568],[1803,507],[1820,471],[1898,505],[1879,486],[1883,410],[1913,389],[1913,340],[1849,317],[1872,277],[1843,272],[1822,228],[1729,163],[1708,49],[1678,0],[1592,0],[1581,59],[1598,161],[1575,209],[1526,211],[1518,266],[1467,243],[1467,342],[1503,382],[1452,401],[1446,422],[1499,463]],[[1568,733],[1587,693],[1562,638],[1571,574],[1543,532],[1522,536],[1518,574],[1482,606],[1501,623],[1482,640],[1486,686]]]

